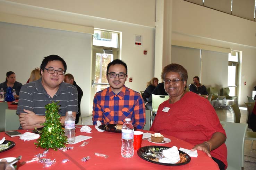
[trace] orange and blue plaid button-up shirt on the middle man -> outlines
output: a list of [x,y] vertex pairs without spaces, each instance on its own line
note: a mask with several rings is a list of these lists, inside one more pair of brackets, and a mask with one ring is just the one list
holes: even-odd
[[138,92],[123,86],[118,94],[114,94],[110,87],[95,94],[93,125],[98,120],[102,124],[123,124],[125,118],[130,118],[137,129],[143,129],[146,123],[145,105]]

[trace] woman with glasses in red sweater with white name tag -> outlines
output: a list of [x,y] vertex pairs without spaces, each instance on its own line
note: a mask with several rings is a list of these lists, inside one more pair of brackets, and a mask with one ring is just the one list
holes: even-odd
[[169,64],[164,67],[161,77],[170,99],[158,107],[150,130],[195,145],[192,151],[205,152],[220,170],[226,169],[226,133],[212,105],[196,93],[185,91],[188,73],[183,66]]

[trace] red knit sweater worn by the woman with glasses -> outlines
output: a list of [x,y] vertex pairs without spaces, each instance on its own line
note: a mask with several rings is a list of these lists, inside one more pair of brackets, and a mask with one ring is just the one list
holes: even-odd
[[[169,111],[163,112],[164,107],[169,107]],[[169,104],[169,100],[163,102],[158,107],[150,130],[174,136],[194,145],[210,140],[215,132],[226,136],[210,102],[193,92],[186,93],[176,103]],[[221,160],[225,169],[227,168],[227,147],[224,143],[212,150],[211,155]]]

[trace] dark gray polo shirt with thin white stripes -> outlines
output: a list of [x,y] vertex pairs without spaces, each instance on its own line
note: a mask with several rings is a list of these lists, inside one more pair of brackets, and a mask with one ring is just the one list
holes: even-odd
[[[22,86],[19,92],[17,114],[24,113],[23,109],[33,111],[36,115],[45,115],[45,105],[52,101],[60,105],[60,116],[67,111],[78,112],[77,88],[74,85],[62,82],[53,98],[48,95],[42,85],[42,78]],[[21,128],[21,126],[20,126]]]

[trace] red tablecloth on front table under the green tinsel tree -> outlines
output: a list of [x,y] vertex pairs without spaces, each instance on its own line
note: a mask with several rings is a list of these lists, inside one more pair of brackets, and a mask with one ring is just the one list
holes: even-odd
[[[44,158],[56,159],[56,163],[47,169],[54,170],[112,170],[112,169],[123,169],[123,170],[135,170],[135,169],[146,169],[146,170],[156,170],[156,169],[175,169],[175,170],[217,170],[219,169],[217,164],[209,158],[202,151],[198,152],[198,157],[191,157],[191,161],[183,166],[163,166],[155,163],[151,163],[141,159],[137,152],[134,151],[134,156],[132,158],[123,158],[121,156],[121,133],[112,133],[112,132],[98,132],[94,126],[90,126],[92,128],[92,133],[80,132],[80,128],[76,128],[76,136],[77,135],[85,135],[92,136],[91,139],[86,140],[89,142],[84,147],[79,147],[82,143],[77,144],[69,144],[68,146],[73,146],[73,150],[68,150],[67,152],[62,151],[54,151],[52,149],[49,150],[49,153]],[[144,131],[143,132],[150,132]],[[25,130],[20,130],[21,133],[25,133]],[[153,133],[153,132],[150,132]],[[35,154],[43,153],[45,149],[36,148],[34,142],[36,140],[31,141],[23,141],[20,140],[19,137],[9,137],[4,132],[0,133],[0,139],[6,137],[6,140],[14,141],[16,143],[15,147],[7,150],[5,152],[0,153],[0,158],[6,157],[18,157],[22,155],[22,160],[27,161],[34,158]],[[170,143],[164,144],[154,144],[148,142],[147,140],[142,141],[142,147],[147,145],[163,145],[167,147],[172,147],[173,145],[178,148],[186,148],[191,149],[193,145],[182,141],[180,139],[174,138],[172,136],[165,136],[166,138],[171,139]],[[95,152],[107,154],[108,158],[97,157],[94,155]],[[90,156],[91,159],[87,162],[82,162],[80,159],[86,156]],[[61,163],[63,159],[68,158],[70,161],[67,163]],[[45,170],[43,168],[42,163],[32,162],[24,164],[19,167],[19,170]]]

